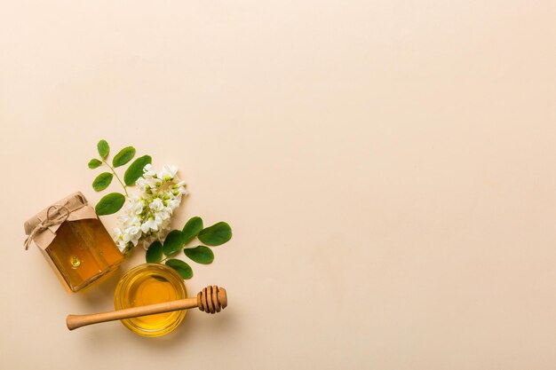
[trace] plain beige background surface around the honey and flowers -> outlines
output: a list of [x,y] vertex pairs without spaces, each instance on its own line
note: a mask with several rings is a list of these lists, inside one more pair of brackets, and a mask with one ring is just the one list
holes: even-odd
[[[552,0],[2,1],[0,367],[555,368],[554,20]],[[99,138],[179,166],[177,227],[233,225],[187,281],[226,311],[68,332],[117,276],[67,295],[22,224],[99,200]]]

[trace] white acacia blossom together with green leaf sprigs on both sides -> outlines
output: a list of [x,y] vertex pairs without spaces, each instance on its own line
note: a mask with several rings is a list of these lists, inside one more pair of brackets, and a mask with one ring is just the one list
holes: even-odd
[[[179,206],[181,197],[187,194],[185,182],[176,176],[178,169],[175,166],[165,165],[162,172],[155,173],[152,169],[152,158],[143,155],[132,161],[123,174],[123,179],[118,176],[115,169],[128,164],[135,157],[136,150],[133,146],[126,146],[115,154],[112,164],[108,162],[110,146],[106,140],[97,144],[99,158],[89,161],[90,169],[107,166],[105,171],[95,177],[92,188],[103,191],[112,184],[114,177],[122,185],[123,193],[108,193],[100,199],[95,210],[99,216],[112,215],[122,209],[126,198],[130,199],[128,187],[136,185],[139,178],[141,195],[130,201],[131,215],[123,215],[123,225],[115,228],[115,238],[118,248],[127,253],[138,241],[151,243],[145,256],[147,263],[166,264],[183,279],[193,277],[193,269],[181,259],[175,258],[181,251],[191,261],[197,264],[211,264],[214,253],[211,247],[217,247],[232,239],[232,229],[225,222],[218,222],[208,227],[203,226],[203,219],[195,216],[187,221],[182,230],[171,230],[162,240],[163,234],[170,228],[172,210]],[[148,166],[147,166],[148,165]],[[145,170],[144,170],[145,169]],[[139,217],[139,221],[138,221]],[[195,244],[194,244],[195,242]]]

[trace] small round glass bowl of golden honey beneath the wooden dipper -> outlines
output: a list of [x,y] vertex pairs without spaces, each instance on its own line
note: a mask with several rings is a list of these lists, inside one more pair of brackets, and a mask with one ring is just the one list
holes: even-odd
[[[164,264],[139,264],[123,275],[115,287],[116,310],[187,298],[184,280]],[[133,333],[160,336],[170,333],[186,316],[186,311],[173,311],[123,319],[122,324]]]

